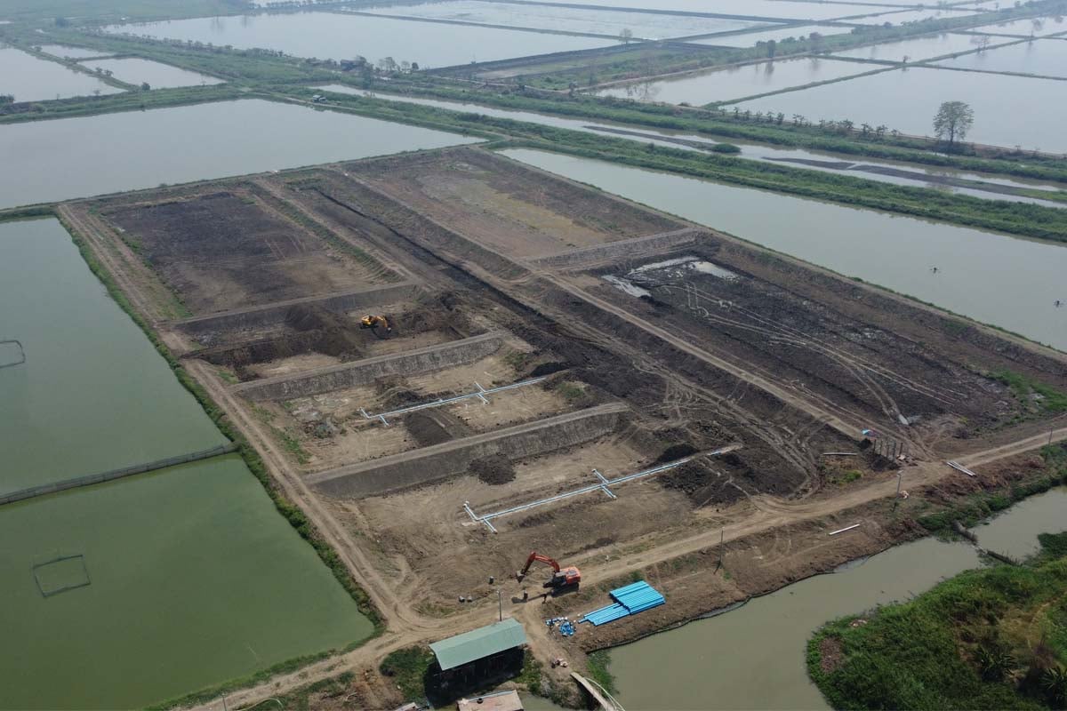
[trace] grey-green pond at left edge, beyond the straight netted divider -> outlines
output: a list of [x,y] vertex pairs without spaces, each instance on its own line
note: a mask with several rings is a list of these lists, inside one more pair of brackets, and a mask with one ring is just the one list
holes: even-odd
[[0,492],[225,441],[54,220],[0,224],[3,339]]

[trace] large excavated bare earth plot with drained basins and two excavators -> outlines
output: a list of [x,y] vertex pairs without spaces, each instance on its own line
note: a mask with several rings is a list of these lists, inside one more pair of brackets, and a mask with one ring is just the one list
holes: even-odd
[[[590,583],[507,584],[536,653],[632,639],[915,535],[885,516],[898,472],[936,487],[1063,427],[1003,382],[1067,388],[1048,353],[480,149],[93,206],[139,308],[165,284],[209,314],[155,322],[387,618],[352,664],[495,619],[489,576],[534,548]],[[537,623],[637,569],[669,609],[567,649]]]

